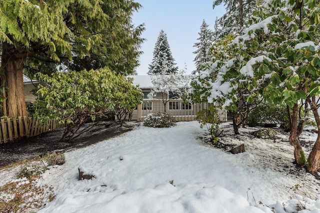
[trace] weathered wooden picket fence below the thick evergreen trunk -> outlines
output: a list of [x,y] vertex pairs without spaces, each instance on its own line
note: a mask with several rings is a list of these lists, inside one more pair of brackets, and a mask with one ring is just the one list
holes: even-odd
[[51,119],[47,122],[31,119],[27,116],[17,119],[0,119],[0,144],[14,141],[23,136],[36,136],[44,132],[64,127],[58,121]]

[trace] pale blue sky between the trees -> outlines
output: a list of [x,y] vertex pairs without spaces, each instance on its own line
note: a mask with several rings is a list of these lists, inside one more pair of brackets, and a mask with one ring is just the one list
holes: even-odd
[[156,39],[161,29],[167,35],[172,56],[179,70],[186,64],[186,73],[194,69],[193,47],[197,42],[202,20],[213,30],[216,17],[225,13],[223,5],[212,9],[213,0],[136,0],[143,7],[133,15],[134,25],[145,24],[142,33],[146,41],[142,44],[144,52],[140,56],[140,66],[136,71],[138,75],[146,75],[148,65],[153,58]]

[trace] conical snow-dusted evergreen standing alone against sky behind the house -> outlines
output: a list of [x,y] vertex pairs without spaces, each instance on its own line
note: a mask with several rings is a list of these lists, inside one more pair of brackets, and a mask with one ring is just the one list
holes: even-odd
[[155,75],[162,73],[166,69],[165,74],[177,73],[178,67],[175,66],[174,58],[170,50],[169,43],[165,32],[161,29],[155,47],[153,50],[153,59],[149,64],[148,75]]

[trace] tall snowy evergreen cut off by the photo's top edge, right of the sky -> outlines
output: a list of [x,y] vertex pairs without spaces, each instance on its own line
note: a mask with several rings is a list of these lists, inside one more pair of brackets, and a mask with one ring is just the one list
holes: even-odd
[[255,0],[214,0],[212,8],[224,3],[226,12],[215,20],[214,37],[221,38],[230,32],[240,32],[247,25]]

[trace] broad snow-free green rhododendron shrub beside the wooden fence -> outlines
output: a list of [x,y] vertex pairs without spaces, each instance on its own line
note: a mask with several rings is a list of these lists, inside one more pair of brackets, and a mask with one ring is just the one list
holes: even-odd
[[[50,76],[38,73],[37,77],[50,86],[39,85],[35,116],[65,123],[62,141],[73,140],[89,130],[97,117],[132,110],[143,97],[138,87],[132,86],[132,79],[116,75],[108,68],[57,72]],[[84,125],[88,122],[92,122],[91,125]]]

